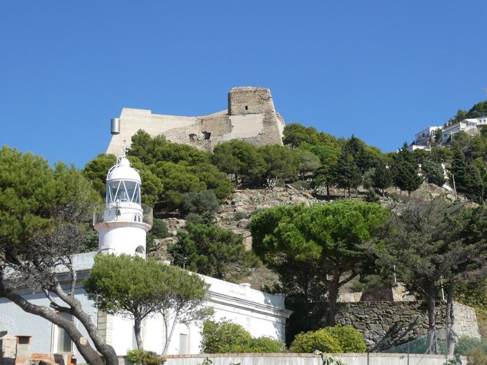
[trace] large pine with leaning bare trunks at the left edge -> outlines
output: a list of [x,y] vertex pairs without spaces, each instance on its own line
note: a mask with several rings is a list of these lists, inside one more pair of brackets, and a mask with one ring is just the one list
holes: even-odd
[[[96,191],[78,170],[63,163],[51,168],[42,157],[9,147],[0,150],[0,169],[0,296],[63,328],[90,364],[118,364],[74,295],[73,255],[86,243],[85,223],[99,204]],[[59,270],[65,271],[68,286],[58,281]],[[45,293],[50,306],[29,302],[16,288]],[[86,336],[79,327],[91,341],[79,341]]]

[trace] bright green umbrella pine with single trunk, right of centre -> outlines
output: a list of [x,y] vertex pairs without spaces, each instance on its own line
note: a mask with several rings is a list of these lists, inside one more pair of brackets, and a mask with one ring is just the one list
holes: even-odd
[[317,277],[328,289],[326,321],[334,325],[338,290],[371,259],[365,246],[374,245],[386,216],[378,204],[346,200],[277,206],[253,216],[253,250],[280,275],[296,262]]

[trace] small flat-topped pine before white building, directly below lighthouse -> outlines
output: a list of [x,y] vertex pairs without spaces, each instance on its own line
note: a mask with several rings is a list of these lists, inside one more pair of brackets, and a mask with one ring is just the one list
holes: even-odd
[[99,309],[134,320],[138,349],[143,348],[143,319],[157,314],[170,316],[172,311],[173,325],[166,326],[166,351],[175,323],[182,316],[200,316],[208,284],[198,275],[154,259],[98,254],[83,287]]

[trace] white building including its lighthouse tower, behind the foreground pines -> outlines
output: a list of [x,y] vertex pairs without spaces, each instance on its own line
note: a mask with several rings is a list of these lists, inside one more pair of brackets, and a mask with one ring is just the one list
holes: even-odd
[[[141,179],[138,172],[122,157],[107,176],[106,203],[94,216],[95,229],[99,232],[99,252],[114,254],[140,254],[145,256],[145,233],[152,225],[152,209],[141,204]],[[79,281],[89,275],[96,252],[78,254],[74,268]],[[250,289],[250,284],[232,284],[202,276],[210,284],[206,305],[214,308],[214,319],[226,318],[242,325],[253,336],[269,336],[284,341],[285,322],[291,314],[284,307],[284,296],[272,295]],[[136,348],[133,321],[98,311],[79,284],[76,291],[83,309],[97,324],[107,343],[117,355],[126,355]],[[42,293],[29,289],[20,292],[36,305],[49,306]],[[83,336],[88,334],[78,326]],[[161,317],[143,321],[142,339],[146,350],[161,353],[164,346],[163,320]],[[74,353],[84,362],[65,331],[49,321],[22,311],[17,305],[0,298],[0,332],[13,336],[31,336],[31,351],[40,353]],[[200,327],[191,323],[178,323],[168,350],[170,354],[199,353]]]

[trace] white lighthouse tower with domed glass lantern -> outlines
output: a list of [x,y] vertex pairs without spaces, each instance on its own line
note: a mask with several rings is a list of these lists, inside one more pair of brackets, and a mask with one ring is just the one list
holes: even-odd
[[145,235],[152,227],[152,208],[141,204],[141,177],[125,156],[106,175],[106,201],[95,212],[98,252],[145,257]]

